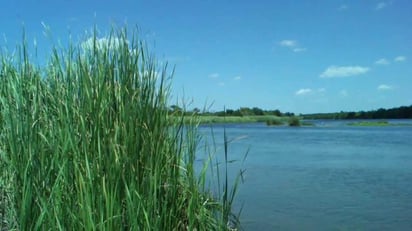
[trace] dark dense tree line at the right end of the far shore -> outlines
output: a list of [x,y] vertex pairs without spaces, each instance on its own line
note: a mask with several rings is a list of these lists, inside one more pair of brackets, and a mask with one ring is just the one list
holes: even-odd
[[372,111],[304,114],[303,119],[412,119],[412,105]]

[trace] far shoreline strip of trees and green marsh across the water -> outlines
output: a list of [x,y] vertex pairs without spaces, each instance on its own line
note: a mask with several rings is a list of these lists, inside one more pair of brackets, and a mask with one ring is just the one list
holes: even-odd
[[[350,126],[392,126],[403,124],[392,124],[385,122],[384,119],[412,119],[412,105],[402,106],[391,109],[378,109],[373,111],[360,112],[337,112],[337,113],[318,113],[300,114],[279,110],[263,110],[257,107],[241,107],[237,110],[226,109],[218,112],[201,112],[195,108],[185,111],[182,108],[172,105],[169,114],[186,115],[185,121],[190,121],[191,116],[197,116],[200,124],[225,124],[225,123],[266,123],[268,126],[315,126],[311,121],[314,120],[345,120]],[[362,122],[362,120],[372,120]],[[377,122],[376,122],[377,121]]]

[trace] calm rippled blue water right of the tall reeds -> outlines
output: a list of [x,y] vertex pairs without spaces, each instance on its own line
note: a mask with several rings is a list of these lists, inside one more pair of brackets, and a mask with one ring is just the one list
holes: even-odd
[[[399,122],[399,121],[397,121]],[[412,121],[402,121],[412,123]],[[412,126],[225,125],[245,230],[412,230]],[[223,157],[223,125],[214,125]],[[209,134],[210,128],[201,128]]]

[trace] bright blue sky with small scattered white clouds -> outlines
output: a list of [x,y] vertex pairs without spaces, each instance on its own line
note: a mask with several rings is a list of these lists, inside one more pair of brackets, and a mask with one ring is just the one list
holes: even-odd
[[372,110],[412,104],[411,15],[410,0],[15,0],[2,1],[0,46],[23,24],[40,58],[95,24],[101,37],[137,25],[189,108]]

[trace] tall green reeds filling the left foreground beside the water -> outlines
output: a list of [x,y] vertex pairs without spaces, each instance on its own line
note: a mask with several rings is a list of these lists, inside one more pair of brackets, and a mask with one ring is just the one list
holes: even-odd
[[237,186],[216,198],[195,174],[198,120],[168,115],[167,66],[124,28],[89,41],[46,67],[25,40],[1,56],[0,228],[228,229]]

